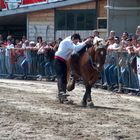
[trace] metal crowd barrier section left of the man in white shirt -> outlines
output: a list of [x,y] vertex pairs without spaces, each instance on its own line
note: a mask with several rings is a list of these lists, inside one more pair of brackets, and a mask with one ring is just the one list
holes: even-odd
[[38,54],[37,49],[0,48],[0,76],[7,78],[55,77],[52,55]]

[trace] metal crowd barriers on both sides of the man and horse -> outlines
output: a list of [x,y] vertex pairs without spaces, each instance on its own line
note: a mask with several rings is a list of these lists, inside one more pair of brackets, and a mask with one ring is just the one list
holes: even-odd
[[[53,55],[38,54],[37,49],[0,48],[0,77],[23,79],[38,76],[54,79]],[[121,85],[124,90],[139,91],[140,58],[126,51],[108,52],[101,75],[102,84]]]

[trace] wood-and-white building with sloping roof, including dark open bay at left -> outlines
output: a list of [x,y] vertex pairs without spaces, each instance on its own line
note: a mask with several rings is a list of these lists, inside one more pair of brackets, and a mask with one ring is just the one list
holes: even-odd
[[[29,40],[42,36],[47,42],[79,33],[82,38],[98,29],[107,31],[106,0],[65,0],[40,2],[0,13],[0,33],[26,35]],[[11,21],[7,23],[7,21]]]

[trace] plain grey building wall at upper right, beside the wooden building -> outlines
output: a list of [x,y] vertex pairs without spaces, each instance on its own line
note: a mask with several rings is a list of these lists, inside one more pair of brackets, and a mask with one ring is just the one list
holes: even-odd
[[107,0],[108,31],[115,30],[117,35],[124,31],[135,34],[140,25],[139,0]]

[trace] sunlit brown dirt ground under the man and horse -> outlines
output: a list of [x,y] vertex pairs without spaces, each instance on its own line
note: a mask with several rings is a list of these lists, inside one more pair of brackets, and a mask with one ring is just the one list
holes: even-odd
[[56,82],[0,80],[0,140],[140,140],[140,98],[92,89],[93,109],[56,101]]

